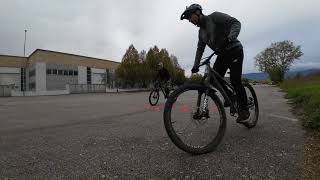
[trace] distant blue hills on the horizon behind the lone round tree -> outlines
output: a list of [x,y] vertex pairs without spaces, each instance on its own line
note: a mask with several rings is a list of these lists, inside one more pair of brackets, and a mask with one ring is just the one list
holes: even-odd
[[[306,76],[309,74],[313,74],[316,72],[320,72],[320,69],[307,69],[307,70],[296,70],[296,71],[289,71],[286,73],[285,78],[288,77],[294,77],[296,76],[298,73],[301,76]],[[248,74],[243,74],[242,77],[247,78],[247,79],[251,79],[254,81],[261,81],[261,80],[267,80],[269,79],[269,75],[267,73],[248,73]]]

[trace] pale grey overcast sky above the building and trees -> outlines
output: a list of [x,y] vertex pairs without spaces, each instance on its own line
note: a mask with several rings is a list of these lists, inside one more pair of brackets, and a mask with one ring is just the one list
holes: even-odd
[[302,46],[293,68],[320,68],[320,0],[1,0],[0,54],[23,56],[27,29],[26,55],[47,49],[120,62],[130,44],[157,45],[190,71],[198,28],[179,18],[192,3],[241,22],[244,73],[257,72],[254,56],[282,40]]

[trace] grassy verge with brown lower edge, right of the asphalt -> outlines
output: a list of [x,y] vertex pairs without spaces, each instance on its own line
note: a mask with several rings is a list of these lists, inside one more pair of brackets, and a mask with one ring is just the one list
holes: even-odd
[[280,87],[308,130],[298,179],[320,179],[320,73],[284,81]]

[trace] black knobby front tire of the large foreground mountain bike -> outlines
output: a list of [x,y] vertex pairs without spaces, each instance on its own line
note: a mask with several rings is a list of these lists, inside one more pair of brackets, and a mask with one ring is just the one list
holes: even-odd
[[215,91],[210,90],[209,97],[217,105],[217,109],[220,114],[220,126],[219,126],[218,133],[215,136],[215,138],[204,147],[191,147],[191,146],[188,146],[187,144],[185,144],[180,139],[180,137],[177,135],[177,133],[175,132],[175,129],[173,127],[173,123],[172,123],[172,119],[171,119],[172,106],[170,106],[170,104],[174,104],[174,102],[176,101],[178,96],[186,91],[198,90],[198,91],[205,92],[205,90],[207,88],[208,87],[204,87],[199,84],[189,84],[189,85],[184,85],[184,86],[179,87],[178,89],[173,91],[172,94],[170,95],[170,97],[167,99],[166,104],[165,104],[165,108],[164,108],[164,112],[163,112],[165,129],[166,129],[167,134],[168,134],[169,138],[171,139],[171,141],[181,150],[183,150],[187,153],[190,153],[190,154],[194,154],[194,155],[205,154],[205,153],[209,153],[209,152],[214,151],[215,148],[219,145],[219,143],[223,139],[225,131],[226,131],[226,126],[227,126],[227,118],[226,118],[226,113],[225,113],[225,109],[223,107],[223,104],[222,104],[221,100],[218,98],[218,96],[215,94]]

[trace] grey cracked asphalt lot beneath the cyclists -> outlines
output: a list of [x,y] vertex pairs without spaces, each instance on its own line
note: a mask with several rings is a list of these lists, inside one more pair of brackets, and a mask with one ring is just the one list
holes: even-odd
[[277,87],[254,88],[258,125],[228,115],[200,156],[170,141],[149,92],[0,98],[0,179],[295,179],[305,132]]

